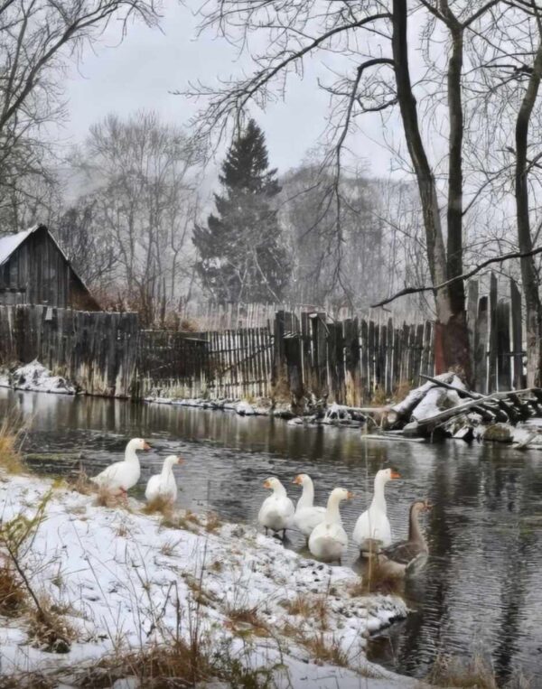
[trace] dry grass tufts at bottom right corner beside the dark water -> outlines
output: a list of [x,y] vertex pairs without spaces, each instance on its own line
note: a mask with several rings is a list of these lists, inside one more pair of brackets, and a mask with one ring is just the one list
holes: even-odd
[[425,680],[438,686],[459,689],[534,689],[534,685],[521,673],[510,677],[506,684],[499,684],[491,663],[480,655],[468,661],[453,656],[437,656]]

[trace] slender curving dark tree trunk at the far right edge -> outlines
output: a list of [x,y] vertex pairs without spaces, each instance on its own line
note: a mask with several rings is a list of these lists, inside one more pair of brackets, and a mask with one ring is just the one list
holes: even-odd
[[[533,248],[528,212],[528,125],[537,100],[541,77],[542,42],[538,45],[533,71],[528,80],[528,87],[521,101],[516,120],[516,212],[518,216],[518,244],[521,253],[532,251]],[[538,387],[542,383],[542,352],[540,347],[542,307],[538,293],[538,276],[533,256],[525,256],[520,259],[520,262],[527,321],[527,385],[528,387]]]

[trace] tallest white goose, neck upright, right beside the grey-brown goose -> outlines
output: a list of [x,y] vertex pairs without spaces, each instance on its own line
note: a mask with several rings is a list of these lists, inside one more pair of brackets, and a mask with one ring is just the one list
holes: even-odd
[[370,503],[369,509],[363,512],[352,533],[352,539],[356,545],[360,546],[362,553],[378,551],[379,548],[386,548],[391,545],[391,526],[389,526],[388,514],[386,511],[386,498],[384,498],[384,487],[388,480],[400,479],[400,475],[395,469],[381,469],[375,476],[375,492]]

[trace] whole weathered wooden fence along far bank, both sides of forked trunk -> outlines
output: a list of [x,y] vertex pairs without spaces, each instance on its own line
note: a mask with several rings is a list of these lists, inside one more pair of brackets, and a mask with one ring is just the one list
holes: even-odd
[[[521,295],[495,275],[468,285],[475,389],[525,386]],[[0,307],[0,366],[38,358],[89,394],[325,398],[382,402],[435,374],[435,323],[332,318],[280,310],[257,325],[200,332],[141,331],[135,313]]]

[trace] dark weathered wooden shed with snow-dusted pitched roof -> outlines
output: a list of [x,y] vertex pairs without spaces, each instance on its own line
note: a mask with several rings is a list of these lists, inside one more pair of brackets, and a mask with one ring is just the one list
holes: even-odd
[[22,303],[100,311],[44,225],[0,237],[0,304]]

